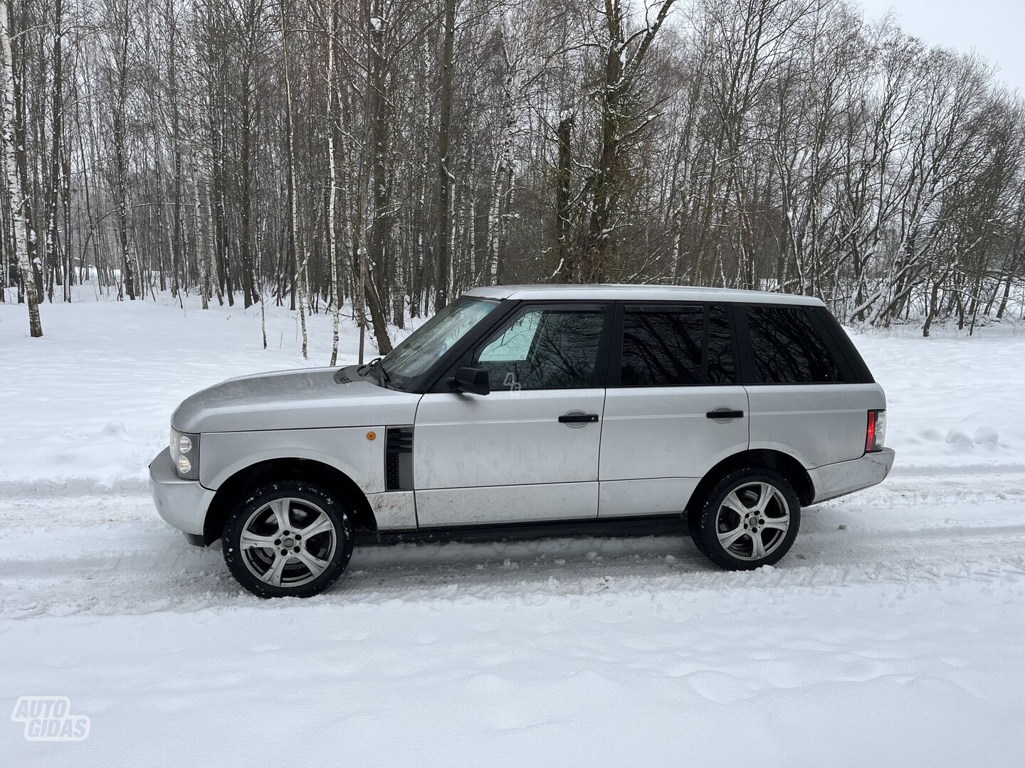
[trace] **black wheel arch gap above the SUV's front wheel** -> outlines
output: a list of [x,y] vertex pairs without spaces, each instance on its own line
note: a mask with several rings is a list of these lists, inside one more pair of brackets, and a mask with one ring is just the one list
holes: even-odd
[[314,459],[268,459],[238,470],[220,483],[203,521],[203,543],[220,539],[232,508],[249,489],[275,480],[304,480],[343,495],[353,505],[358,530],[377,531],[377,519],[363,489],[336,467]]

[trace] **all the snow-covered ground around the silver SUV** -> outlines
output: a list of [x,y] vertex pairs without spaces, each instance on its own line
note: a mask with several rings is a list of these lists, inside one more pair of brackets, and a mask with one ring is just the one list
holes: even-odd
[[[306,601],[243,593],[163,523],[174,406],[326,364],[330,321],[166,302],[0,304],[0,707],[89,737],[0,765],[1022,765],[1025,335],[857,335],[883,485],[809,510],[775,568],[682,536],[359,548]],[[357,335],[343,321],[343,361]]]

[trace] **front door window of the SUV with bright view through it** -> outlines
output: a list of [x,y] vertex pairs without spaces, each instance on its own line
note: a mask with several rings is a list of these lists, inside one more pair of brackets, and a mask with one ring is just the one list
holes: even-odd
[[492,389],[594,386],[604,309],[528,309],[516,315],[474,359]]

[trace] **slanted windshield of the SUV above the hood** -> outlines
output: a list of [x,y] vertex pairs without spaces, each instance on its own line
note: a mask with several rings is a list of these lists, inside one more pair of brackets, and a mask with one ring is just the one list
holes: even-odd
[[383,359],[388,378],[401,387],[423,374],[496,306],[494,299],[456,299],[388,352]]

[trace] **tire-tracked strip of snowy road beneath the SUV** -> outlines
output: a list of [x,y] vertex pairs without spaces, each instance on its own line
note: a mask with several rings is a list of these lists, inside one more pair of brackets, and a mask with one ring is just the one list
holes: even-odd
[[[950,580],[1010,584],[1025,596],[1025,522],[1008,523],[1025,519],[1016,501],[989,502],[971,515],[948,504],[935,511],[952,522],[926,528],[891,519],[885,506],[859,505],[853,519],[861,527],[840,529],[845,523],[837,521],[852,519],[852,507],[810,511],[786,559],[758,571],[714,569],[685,536],[360,547],[346,575],[308,602],[615,599],[637,593],[682,599],[709,591],[864,584],[917,589]],[[867,515],[874,519],[864,520]],[[888,520],[888,527],[867,527]],[[0,616],[8,618],[281,605],[243,592],[218,548],[191,547],[152,520],[0,530]]]

